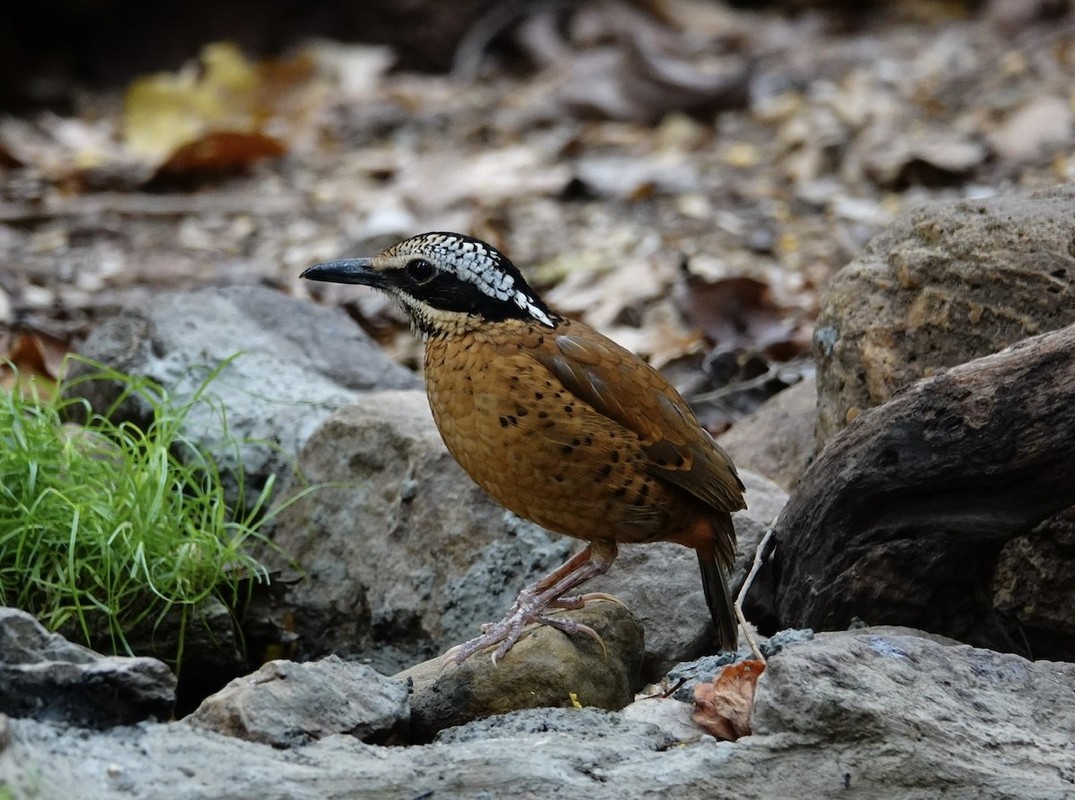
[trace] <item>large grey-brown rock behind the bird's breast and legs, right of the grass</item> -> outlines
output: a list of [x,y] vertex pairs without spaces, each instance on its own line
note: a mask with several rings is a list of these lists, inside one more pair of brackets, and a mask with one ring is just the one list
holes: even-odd
[[422,391],[342,409],[299,467],[331,483],[291,506],[276,542],[303,569],[299,652],[362,655],[396,672],[476,635],[571,543],[508,515],[448,454]]

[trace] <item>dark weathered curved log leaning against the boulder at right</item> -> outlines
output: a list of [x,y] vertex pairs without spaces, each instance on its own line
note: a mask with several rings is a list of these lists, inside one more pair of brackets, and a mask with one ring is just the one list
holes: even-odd
[[[1071,630],[1071,584],[1054,584],[1056,605],[1019,631],[992,608],[993,572],[1005,542],[1075,504],[1072,397],[1075,325],[920,381],[856,419],[776,528],[779,618],[838,629],[858,616],[1056,652],[1046,619],[1062,615]],[[1022,574],[1038,584],[1040,571]],[[1000,583],[1010,605],[1020,582]]]

